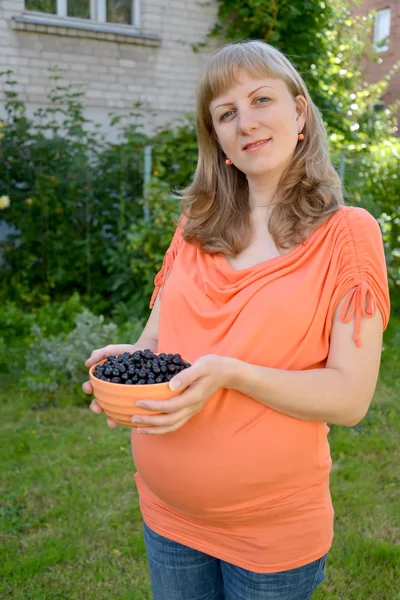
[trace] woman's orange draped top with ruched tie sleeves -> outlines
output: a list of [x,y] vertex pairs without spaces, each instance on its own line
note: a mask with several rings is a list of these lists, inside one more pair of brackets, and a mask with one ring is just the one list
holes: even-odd
[[[217,354],[322,368],[346,294],[340,316],[355,318],[358,346],[363,316],[378,308],[385,328],[389,317],[380,228],[354,207],[341,207],[305,244],[239,271],[178,228],[155,284],[151,305],[163,288],[158,351],[190,362]],[[133,430],[143,518],[160,535],[258,573],[316,560],[333,536],[328,432],[220,389],[176,432]]]

